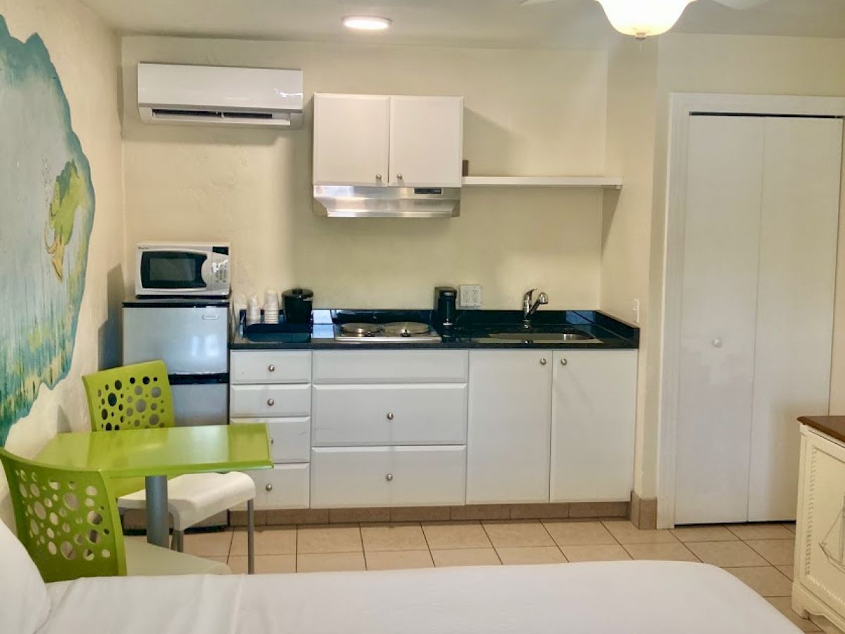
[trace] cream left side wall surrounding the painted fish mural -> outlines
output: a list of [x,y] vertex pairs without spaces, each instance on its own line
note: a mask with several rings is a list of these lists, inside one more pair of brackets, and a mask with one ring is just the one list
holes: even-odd
[[[19,40],[25,41],[33,32],[41,35],[68,97],[71,121],[90,161],[96,195],[73,363],[54,390],[41,385],[30,414],[14,424],[6,441],[9,451],[35,456],[58,431],[88,427],[79,377],[119,361],[123,298],[119,43],[115,33],[76,0],[0,0],[0,15]],[[0,520],[13,523],[3,475]]]

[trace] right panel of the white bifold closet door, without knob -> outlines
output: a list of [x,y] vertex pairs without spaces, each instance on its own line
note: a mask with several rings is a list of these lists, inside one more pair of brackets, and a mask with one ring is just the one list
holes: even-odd
[[795,517],[799,429],[828,411],[842,121],[766,119],[749,519]]

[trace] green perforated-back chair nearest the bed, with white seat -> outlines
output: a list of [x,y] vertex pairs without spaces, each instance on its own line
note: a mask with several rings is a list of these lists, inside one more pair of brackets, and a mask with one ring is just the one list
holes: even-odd
[[46,582],[121,575],[228,574],[225,564],[124,541],[108,478],[0,448],[18,538]]

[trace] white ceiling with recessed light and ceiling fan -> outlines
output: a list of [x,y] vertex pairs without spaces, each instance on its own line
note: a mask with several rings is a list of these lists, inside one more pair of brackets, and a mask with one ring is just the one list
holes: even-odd
[[[83,0],[126,32],[446,46],[600,46],[613,35],[596,0]],[[350,14],[393,19],[384,33],[341,27]],[[737,11],[697,0],[675,30],[845,37],[845,0],[769,0]]]

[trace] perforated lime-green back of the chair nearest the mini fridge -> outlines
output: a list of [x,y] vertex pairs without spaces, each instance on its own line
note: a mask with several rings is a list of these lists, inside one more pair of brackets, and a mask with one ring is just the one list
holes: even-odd
[[92,431],[173,427],[164,361],[124,365],[82,377]]

